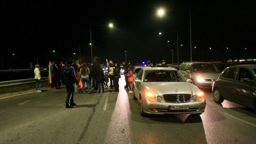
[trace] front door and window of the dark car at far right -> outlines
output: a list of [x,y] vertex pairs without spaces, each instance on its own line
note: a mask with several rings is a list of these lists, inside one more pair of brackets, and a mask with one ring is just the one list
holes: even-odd
[[[244,82],[245,78],[254,80],[254,83]],[[232,84],[232,99],[239,104],[254,107],[254,92],[256,90],[255,79],[249,69],[240,67],[237,77]]]

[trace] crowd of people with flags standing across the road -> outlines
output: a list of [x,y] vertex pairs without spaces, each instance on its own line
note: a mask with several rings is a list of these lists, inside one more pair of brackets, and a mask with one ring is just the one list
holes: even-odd
[[[52,75],[51,78],[51,88],[56,88],[56,90],[62,89],[62,86],[66,86],[67,99],[66,108],[73,108],[76,104],[73,100],[73,94],[83,93],[86,90],[88,94],[91,91],[97,91],[98,93],[104,93],[104,89],[108,89],[110,92],[119,92],[119,79],[121,78],[120,71],[123,70],[126,85],[124,89],[129,90],[129,93],[133,93],[133,65],[126,61],[123,61],[123,68],[121,68],[119,63],[113,63],[113,60],[109,61],[108,71],[104,73],[103,63],[98,64],[95,60],[94,63],[79,63],[78,60],[68,60],[63,64],[57,65],[54,61],[52,64]],[[39,64],[36,64],[34,69],[34,79],[36,79],[36,92],[41,93],[41,76],[39,71]],[[110,85],[108,83],[110,82]],[[81,86],[79,85],[81,83]],[[91,86],[92,83],[92,86]],[[81,92],[82,91],[82,92]]]

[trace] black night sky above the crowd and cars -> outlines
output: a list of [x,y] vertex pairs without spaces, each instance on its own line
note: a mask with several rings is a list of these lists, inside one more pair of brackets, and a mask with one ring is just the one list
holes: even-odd
[[178,49],[179,63],[190,61],[190,12],[193,61],[256,57],[255,0],[5,0],[1,6],[1,69],[29,68],[37,60],[46,67],[77,54],[90,62],[90,26],[98,62],[178,63]]

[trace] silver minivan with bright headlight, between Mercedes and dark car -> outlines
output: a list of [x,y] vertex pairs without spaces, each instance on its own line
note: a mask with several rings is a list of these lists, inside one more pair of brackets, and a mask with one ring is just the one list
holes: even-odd
[[186,79],[199,89],[212,89],[213,82],[218,79],[220,70],[212,63],[186,62],[180,65],[179,71]]

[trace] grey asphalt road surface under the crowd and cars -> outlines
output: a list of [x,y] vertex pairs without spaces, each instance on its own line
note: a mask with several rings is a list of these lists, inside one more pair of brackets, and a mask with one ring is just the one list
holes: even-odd
[[[120,87],[124,86],[124,78]],[[141,117],[132,94],[75,94],[65,108],[66,90],[43,89],[0,96],[0,144],[255,144],[256,113],[206,93],[206,109],[190,114]]]

